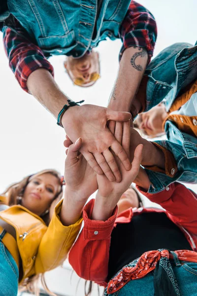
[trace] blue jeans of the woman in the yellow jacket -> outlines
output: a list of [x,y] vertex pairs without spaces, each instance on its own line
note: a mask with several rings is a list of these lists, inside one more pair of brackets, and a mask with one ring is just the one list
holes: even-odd
[[2,243],[5,234],[0,234],[0,296],[17,296],[18,293],[18,266],[10,252]]

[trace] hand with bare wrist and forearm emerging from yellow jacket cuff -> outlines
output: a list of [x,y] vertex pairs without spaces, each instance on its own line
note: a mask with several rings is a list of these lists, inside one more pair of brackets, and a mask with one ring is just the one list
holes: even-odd
[[60,211],[60,220],[65,225],[77,222],[83,211],[88,198],[98,188],[96,174],[88,165],[79,149],[82,139],[79,138],[73,144],[69,138],[65,140],[66,151],[65,161],[65,182],[64,200]]

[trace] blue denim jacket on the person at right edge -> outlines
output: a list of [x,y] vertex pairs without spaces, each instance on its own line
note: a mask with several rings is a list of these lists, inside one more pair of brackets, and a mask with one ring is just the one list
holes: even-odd
[[[146,110],[164,100],[169,111],[181,89],[197,79],[197,43],[175,43],[165,48],[146,69],[149,80],[146,90]],[[167,140],[155,141],[170,150],[178,171],[173,178],[146,169],[150,178],[150,193],[164,190],[175,181],[197,183],[197,138],[177,129],[172,121],[164,126]]]

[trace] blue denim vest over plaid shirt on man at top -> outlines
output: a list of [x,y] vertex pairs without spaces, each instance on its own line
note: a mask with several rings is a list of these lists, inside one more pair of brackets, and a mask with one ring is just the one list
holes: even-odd
[[118,38],[130,2],[103,0],[97,22],[97,0],[8,0],[8,8],[46,56],[80,57],[106,37]]

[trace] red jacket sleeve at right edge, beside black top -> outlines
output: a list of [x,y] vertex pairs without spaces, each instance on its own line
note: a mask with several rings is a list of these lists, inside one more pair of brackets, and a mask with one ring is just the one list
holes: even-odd
[[172,221],[197,234],[197,194],[180,183],[173,183],[165,190],[150,194],[139,186],[137,189],[148,199],[160,204],[171,216]]

